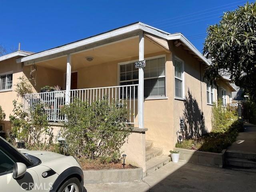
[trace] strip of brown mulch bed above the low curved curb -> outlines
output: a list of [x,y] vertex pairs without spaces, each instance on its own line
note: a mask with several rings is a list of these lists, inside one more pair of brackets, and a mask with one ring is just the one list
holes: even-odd
[[121,162],[118,163],[102,163],[100,160],[90,160],[86,158],[81,158],[80,163],[83,170],[102,170],[102,169],[134,169],[136,166],[131,164],[124,165]]

